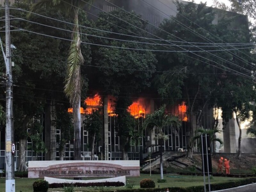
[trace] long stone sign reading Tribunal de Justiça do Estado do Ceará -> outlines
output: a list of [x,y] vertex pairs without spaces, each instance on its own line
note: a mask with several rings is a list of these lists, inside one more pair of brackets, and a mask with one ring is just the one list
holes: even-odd
[[29,161],[28,178],[139,177],[140,161]]

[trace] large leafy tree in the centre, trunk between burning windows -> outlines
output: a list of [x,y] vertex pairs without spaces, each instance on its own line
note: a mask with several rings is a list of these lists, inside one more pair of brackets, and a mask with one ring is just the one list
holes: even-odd
[[[100,19],[95,21],[95,25],[99,29],[122,33],[127,35],[147,36],[146,32],[138,30],[136,27],[147,30],[146,22],[136,18],[134,12],[129,14],[124,11],[114,10],[110,12],[117,18],[131,23],[129,25],[115,17],[110,17],[108,13],[100,12]],[[140,17],[140,16],[138,16]],[[113,23],[109,25],[109,23]],[[118,26],[118,27],[117,27]],[[100,32],[100,36],[109,38],[123,39],[118,34],[109,34]],[[117,40],[90,38],[94,44],[107,44],[113,47],[91,46],[92,49],[92,69],[95,73],[88,74],[90,80],[89,88],[94,90],[104,90],[102,95],[113,95],[116,97],[116,110],[118,120],[118,136],[120,138],[121,150],[123,152],[123,160],[128,160],[128,150],[130,146],[131,135],[129,130],[134,129],[134,120],[129,112],[128,107],[132,104],[131,97],[136,97],[146,87],[150,86],[150,78],[155,70],[155,55],[150,51],[118,49],[114,46],[124,48],[150,49],[147,44],[138,44],[138,38],[127,36],[125,40],[134,42],[123,42]],[[131,70],[127,70],[131,69]],[[127,127],[126,127],[127,126]]]

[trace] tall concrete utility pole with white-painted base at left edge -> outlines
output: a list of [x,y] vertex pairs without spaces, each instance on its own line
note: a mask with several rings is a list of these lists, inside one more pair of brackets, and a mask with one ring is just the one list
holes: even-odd
[[12,101],[12,62],[9,0],[5,0],[5,67],[6,67],[6,129],[5,129],[5,191],[15,192],[13,101]]

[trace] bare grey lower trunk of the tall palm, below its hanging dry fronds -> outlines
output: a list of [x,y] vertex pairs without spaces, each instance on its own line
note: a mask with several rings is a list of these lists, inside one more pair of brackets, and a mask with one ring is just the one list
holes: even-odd
[[73,118],[74,118],[74,160],[81,160],[81,114],[80,114],[80,100],[73,106]]

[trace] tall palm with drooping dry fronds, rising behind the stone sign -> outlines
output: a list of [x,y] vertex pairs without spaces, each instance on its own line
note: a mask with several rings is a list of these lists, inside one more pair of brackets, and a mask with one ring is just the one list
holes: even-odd
[[68,53],[67,75],[65,78],[64,92],[69,99],[70,105],[73,107],[73,119],[75,130],[75,154],[74,160],[81,159],[81,89],[82,77],[80,66],[84,63],[84,57],[81,53],[81,37],[78,24],[78,12],[85,6],[87,2],[92,0],[39,0],[32,5],[32,11],[36,11],[41,7],[56,7],[57,9],[69,13],[74,18],[74,28],[71,36],[71,43]]

